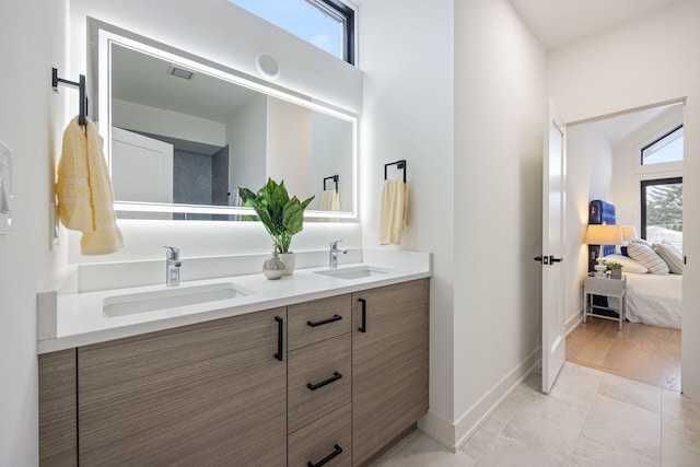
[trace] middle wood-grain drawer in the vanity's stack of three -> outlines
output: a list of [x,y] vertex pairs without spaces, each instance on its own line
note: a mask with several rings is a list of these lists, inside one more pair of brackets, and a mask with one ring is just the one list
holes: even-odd
[[289,432],[350,401],[351,335],[327,339],[289,352]]

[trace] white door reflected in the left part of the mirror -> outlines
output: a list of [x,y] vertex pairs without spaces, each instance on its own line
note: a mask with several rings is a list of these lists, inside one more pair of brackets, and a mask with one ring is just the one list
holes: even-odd
[[173,144],[112,127],[109,163],[115,200],[173,202]]

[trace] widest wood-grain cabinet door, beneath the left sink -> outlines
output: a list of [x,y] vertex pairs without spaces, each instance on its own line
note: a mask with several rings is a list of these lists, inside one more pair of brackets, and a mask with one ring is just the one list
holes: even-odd
[[285,465],[276,317],[285,308],[80,348],[80,465]]

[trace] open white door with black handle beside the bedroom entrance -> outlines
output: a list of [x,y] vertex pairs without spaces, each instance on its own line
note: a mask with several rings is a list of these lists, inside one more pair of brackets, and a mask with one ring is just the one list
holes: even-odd
[[549,104],[542,174],[542,392],[549,393],[565,358],[564,182],[567,128]]

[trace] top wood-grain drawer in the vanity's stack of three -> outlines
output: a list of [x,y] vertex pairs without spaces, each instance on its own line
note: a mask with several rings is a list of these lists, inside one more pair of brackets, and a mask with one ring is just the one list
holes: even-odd
[[290,305],[289,350],[350,332],[350,295]]

